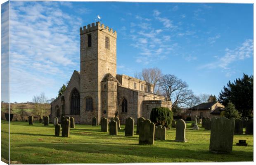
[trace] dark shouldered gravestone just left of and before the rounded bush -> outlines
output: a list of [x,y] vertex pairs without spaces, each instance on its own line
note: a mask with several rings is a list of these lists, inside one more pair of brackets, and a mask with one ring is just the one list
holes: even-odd
[[139,144],[154,144],[155,124],[149,119],[140,123]]

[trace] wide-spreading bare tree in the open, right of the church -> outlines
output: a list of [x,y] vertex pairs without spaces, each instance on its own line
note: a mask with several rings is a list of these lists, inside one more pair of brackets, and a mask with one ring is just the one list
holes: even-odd
[[188,89],[187,83],[175,75],[162,76],[159,84],[164,96],[171,99],[172,107],[187,104],[193,94],[192,90]]

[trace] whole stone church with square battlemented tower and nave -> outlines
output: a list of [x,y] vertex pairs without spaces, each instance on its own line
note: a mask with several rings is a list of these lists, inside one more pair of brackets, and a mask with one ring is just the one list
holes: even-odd
[[91,124],[92,118],[150,118],[154,107],[171,101],[153,94],[149,82],[116,74],[117,33],[100,22],[80,28],[80,72],[74,71],[65,92],[51,103],[50,120],[70,116],[76,123]]

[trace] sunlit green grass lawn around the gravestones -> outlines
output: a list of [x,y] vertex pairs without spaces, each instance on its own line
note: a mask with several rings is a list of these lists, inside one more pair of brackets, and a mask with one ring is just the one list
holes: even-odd
[[[2,138],[8,137],[8,123],[1,120],[1,124]],[[175,129],[171,128],[167,130],[165,141],[138,145],[139,136],[125,137],[124,130],[118,136],[110,136],[107,132],[100,132],[100,126],[76,125],[76,128],[71,128],[70,137],[65,138],[54,136],[52,124],[34,123],[32,126],[26,122],[11,122],[10,157],[11,161],[34,164],[253,161],[252,135],[235,135],[231,153],[211,153],[210,131],[204,128],[190,130],[190,125],[187,124],[185,143],[174,141]],[[248,146],[235,146],[239,139],[246,140]],[[8,159],[6,156],[1,155]]]

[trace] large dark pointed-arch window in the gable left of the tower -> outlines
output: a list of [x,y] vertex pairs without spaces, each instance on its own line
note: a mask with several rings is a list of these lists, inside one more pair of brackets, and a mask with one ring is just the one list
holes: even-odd
[[80,113],[80,94],[76,88],[71,92],[70,114]]

